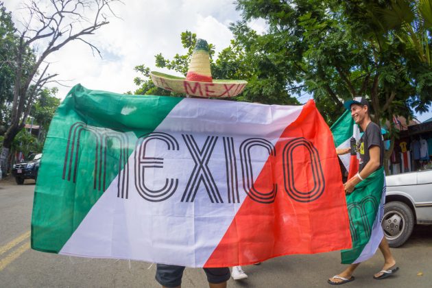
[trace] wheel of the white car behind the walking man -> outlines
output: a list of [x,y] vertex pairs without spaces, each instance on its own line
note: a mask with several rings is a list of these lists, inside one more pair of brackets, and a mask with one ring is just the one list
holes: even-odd
[[396,248],[403,245],[414,228],[414,215],[411,208],[403,202],[388,202],[384,207],[381,226],[390,247]]

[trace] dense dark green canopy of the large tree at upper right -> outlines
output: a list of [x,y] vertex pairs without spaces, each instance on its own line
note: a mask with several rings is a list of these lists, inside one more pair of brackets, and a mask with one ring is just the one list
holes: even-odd
[[[313,95],[328,123],[344,112],[342,101],[356,95],[370,97],[376,121],[409,118],[431,104],[430,71],[396,36],[398,27],[383,25],[378,16],[404,14],[406,21],[418,21],[418,14],[410,12],[416,1],[405,1],[397,11],[392,10],[396,2],[403,1],[239,0],[243,22],[232,31],[247,53],[253,45],[267,58],[287,51],[289,57],[278,63],[283,80],[289,88],[302,84],[300,93]],[[244,21],[259,18],[267,32],[248,38]]]

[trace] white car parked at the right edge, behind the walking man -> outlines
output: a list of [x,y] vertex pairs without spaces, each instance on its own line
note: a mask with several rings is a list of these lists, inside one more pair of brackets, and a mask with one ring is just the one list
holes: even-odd
[[432,169],[386,177],[381,225],[390,247],[403,245],[414,224],[432,224]]

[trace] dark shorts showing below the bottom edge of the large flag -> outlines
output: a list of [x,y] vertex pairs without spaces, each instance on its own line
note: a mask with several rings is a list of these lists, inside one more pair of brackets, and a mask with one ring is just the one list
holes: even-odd
[[[230,269],[223,268],[203,268],[206,272],[208,283],[219,284],[228,281]],[[182,284],[184,266],[176,265],[156,265],[156,281],[165,287],[177,287]]]

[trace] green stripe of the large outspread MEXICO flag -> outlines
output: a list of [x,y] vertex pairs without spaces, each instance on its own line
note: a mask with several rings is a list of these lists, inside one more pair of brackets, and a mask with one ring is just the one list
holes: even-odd
[[56,111],[43,148],[32,248],[59,252],[123,169],[136,139],[153,132],[180,101],[74,86]]

